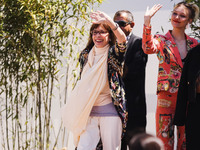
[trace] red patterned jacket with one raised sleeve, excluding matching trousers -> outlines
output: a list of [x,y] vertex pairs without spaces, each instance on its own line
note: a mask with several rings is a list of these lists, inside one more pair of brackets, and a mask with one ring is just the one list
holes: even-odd
[[[198,42],[194,38],[186,36],[187,50],[195,47]],[[178,47],[168,31],[166,35],[151,35],[151,27],[144,26],[142,48],[146,54],[156,53],[159,60],[157,92],[178,91],[183,63],[178,51]]]

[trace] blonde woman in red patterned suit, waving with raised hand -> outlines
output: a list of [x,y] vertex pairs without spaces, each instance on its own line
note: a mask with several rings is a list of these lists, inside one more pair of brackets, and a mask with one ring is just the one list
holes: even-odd
[[[198,42],[185,34],[188,24],[199,15],[198,6],[193,3],[178,3],[171,15],[172,30],[165,35],[151,35],[151,18],[162,7],[154,5],[144,16],[142,47],[146,54],[157,54],[159,71],[157,81],[156,134],[164,142],[165,150],[174,147],[174,118],[177,92],[188,51]],[[185,128],[178,127],[177,149],[185,149]]]

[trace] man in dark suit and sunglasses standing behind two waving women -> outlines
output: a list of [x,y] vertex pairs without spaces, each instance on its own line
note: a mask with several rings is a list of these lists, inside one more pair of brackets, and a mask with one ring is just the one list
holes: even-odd
[[127,150],[127,145],[135,134],[146,132],[145,68],[147,55],[142,50],[142,39],[132,33],[135,25],[132,13],[120,10],[115,13],[114,21],[126,34],[128,41],[123,75],[128,123],[121,145],[121,150]]

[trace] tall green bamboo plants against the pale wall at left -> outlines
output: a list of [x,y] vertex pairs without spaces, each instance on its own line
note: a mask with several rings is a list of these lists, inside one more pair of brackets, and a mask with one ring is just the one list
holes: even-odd
[[100,3],[0,2],[0,149],[46,150],[65,145],[65,130],[61,123],[55,128],[52,119],[53,104],[62,106],[76,81],[74,68],[88,13]]

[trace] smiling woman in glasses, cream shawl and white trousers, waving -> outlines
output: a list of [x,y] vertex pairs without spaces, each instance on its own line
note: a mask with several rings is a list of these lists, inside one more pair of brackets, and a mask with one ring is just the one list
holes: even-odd
[[[77,150],[119,150],[127,112],[122,70],[126,36],[103,12],[94,20],[86,48],[80,54],[80,80],[62,109],[62,119]],[[116,40],[115,40],[116,39]]]

